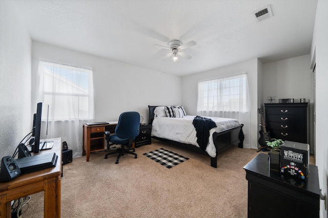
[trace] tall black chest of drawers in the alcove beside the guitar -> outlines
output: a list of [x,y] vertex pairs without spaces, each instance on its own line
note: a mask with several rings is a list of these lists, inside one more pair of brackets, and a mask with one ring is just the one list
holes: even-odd
[[271,138],[308,143],[308,103],[265,105],[265,124]]

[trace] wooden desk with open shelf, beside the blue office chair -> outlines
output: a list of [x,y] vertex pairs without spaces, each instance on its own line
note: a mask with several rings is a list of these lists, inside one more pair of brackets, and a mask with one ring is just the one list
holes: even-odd
[[83,125],[83,153],[87,155],[87,161],[90,159],[90,153],[105,149],[105,130],[110,133],[115,132],[117,124],[103,124],[103,125]]

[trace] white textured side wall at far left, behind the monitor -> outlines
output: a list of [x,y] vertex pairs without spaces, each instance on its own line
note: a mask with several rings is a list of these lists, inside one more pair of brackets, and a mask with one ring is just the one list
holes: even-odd
[[31,39],[12,1],[0,1],[0,159],[32,129]]

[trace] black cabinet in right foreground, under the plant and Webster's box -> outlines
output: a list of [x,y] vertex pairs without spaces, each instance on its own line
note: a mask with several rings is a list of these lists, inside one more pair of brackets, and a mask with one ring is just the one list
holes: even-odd
[[308,181],[270,171],[261,153],[243,168],[248,180],[248,217],[319,217],[318,167],[309,165]]

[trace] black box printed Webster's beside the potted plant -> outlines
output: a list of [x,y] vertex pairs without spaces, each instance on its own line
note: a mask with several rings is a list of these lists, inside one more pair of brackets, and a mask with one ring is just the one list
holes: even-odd
[[301,180],[307,180],[309,171],[309,144],[285,141],[280,151],[280,173]]

